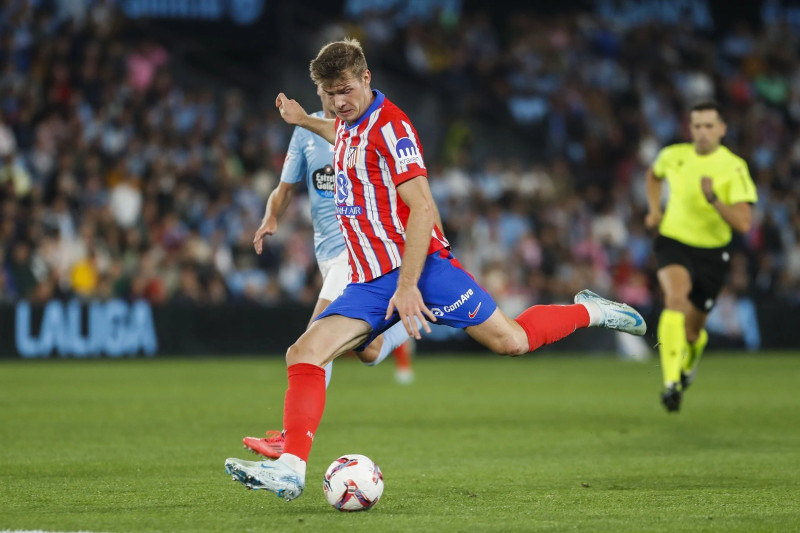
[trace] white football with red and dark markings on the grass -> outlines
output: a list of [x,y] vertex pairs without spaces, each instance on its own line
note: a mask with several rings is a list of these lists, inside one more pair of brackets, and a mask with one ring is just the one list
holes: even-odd
[[338,511],[366,511],[383,494],[383,474],[365,455],[343,455],[328,467],[322,490],[328,503]]

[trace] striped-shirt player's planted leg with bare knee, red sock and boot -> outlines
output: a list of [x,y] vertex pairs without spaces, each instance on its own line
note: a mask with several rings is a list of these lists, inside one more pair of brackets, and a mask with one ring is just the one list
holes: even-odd
[[325,410],[323,367],[360,346],[371,327],[362,320],[329,315],[314,322],[286,353],[289,387],[283,406],[284,453],[276,461],[229,458],[225,471],[247,488],[297,498],[305,487],[306,461]]

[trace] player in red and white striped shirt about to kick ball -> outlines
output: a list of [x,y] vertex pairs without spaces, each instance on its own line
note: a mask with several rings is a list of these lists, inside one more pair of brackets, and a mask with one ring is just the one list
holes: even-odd
[[[287,354],[284,453],[276,461],[228,459],[226,471],[249,488],[291,500],[305,487],[306,460],[325,407],[329,362],[363,349],[398,321],[419,339],[428,321],[463,328],[502,355],[521,355],[601,326],[643,335],[630,306],[581,291],[574,305],[538,305],[516,319],[450,253],[435,223],[422,146],[411,121],[380,91],[358,41],[330,43],[311,62],[311,78],[333,101],[336,119],[309,116],[283,93],[276,106],[289,124],[334,145],[336,216],[347,242],[352,283]],[[420,325],[422,326],[420,328]]]

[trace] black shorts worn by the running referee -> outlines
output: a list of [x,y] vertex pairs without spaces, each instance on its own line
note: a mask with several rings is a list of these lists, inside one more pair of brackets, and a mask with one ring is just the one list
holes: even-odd
[[692,290],[689,301],[697,309],[709,312],[725,283],[731,266],[728,246],[695,248],[675,239],[659,235],[653,243],[658,268],[682,265],[689,271]]

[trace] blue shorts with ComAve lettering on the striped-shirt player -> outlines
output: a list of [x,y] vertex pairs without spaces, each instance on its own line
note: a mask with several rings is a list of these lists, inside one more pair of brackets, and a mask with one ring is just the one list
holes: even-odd
[[[366,283],[351,283],[317,320],[330,315],[357,318],[372,327],[367,341],[356,348],[363,350],[375,337],[400,321],[397,310],[389,320],[386,309],[397,290],[400,269],[395,269]],[[482,324],[497,309],[489,293],[478,285],[458,260],[442,250],[428,256],[417,284],[425,305],[437,318],[437,324],[466,328]]]

